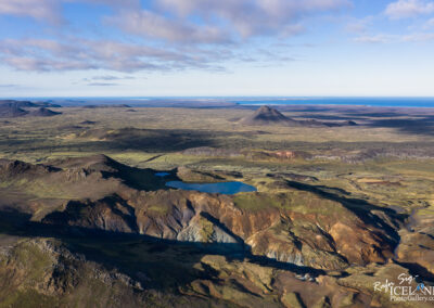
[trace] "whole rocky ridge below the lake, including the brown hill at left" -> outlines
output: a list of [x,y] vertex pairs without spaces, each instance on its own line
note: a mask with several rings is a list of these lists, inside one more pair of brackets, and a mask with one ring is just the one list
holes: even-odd
[[51,195],[68,191],[73,201],[44,217],[40,214],[47,211],[33,202],[31,210],[39,214],[35,217],[44,223],[180,242],[238,244],[256,256],[316,269],[385,261],[396,245],[390,230],[379,228],[379,218],[369,210],[355,213],[311,192],[288,188],[280,193],[227,196],[174,191],[165,189],[152,171],[146,174],[148,182],[158,188],[159,181],[161,189],[146,192],[128,187],[131,171],[105,156],[55,165],[0,165],[3,177],[14,179],[12,187],[31,180]]

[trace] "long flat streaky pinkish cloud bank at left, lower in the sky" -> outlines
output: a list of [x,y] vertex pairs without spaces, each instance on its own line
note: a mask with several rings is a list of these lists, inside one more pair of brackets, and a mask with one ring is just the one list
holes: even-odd
[[234,59],[228,50],[153,48],[113,40],[68,38],[65,42],[48,39],[9,39],[0,41],[0,60],[18,70],[116,72],[177,70],[186,68],[221,69],[219,62]]

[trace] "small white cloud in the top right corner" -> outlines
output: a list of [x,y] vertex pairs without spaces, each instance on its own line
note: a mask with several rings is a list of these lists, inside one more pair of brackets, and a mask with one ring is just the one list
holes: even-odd
[[434,13],[434,2],[424,0],[398,0],[390,3],[385,14],[392,20],[416,17]]

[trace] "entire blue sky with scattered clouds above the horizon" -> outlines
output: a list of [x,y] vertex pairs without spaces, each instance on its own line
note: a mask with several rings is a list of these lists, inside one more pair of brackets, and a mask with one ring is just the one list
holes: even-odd
[[0,0],[0,97],[434,97],[434,0]]

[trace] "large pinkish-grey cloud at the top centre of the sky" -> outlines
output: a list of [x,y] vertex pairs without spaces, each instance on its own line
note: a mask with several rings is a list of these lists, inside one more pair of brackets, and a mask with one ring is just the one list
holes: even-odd
[[349,5],[347,0],[153,2],[154,11],[123,8],[107,20],[128,34],[169,42],[228,43],[256,36],[296,35],[305,29],[301,23],[304,17]]

